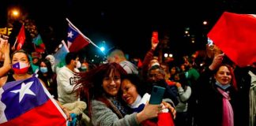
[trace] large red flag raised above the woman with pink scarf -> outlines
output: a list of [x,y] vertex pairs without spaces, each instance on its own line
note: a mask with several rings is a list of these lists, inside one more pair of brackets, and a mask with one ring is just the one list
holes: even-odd
[[256,61],[256,15],[224,12],[208,37],[236,65],[244,67]]

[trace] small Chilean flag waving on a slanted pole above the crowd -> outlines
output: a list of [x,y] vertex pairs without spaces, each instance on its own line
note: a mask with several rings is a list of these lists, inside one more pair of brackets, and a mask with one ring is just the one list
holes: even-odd
[[69,24],[68,28],[67,42],[70,52],[77,52],[90,43],[90,41],[85,39],[71,24]]

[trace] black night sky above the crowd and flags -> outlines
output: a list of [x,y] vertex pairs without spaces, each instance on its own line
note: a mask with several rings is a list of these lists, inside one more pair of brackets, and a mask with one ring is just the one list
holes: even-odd
[[[82,0],[1,0],[0,27],[6,24],[8,6],[20,6],[36,21],[40,34],[54,31],[54,42],[47,44],[52,52],[62,39],[66,40],[67,17],[84,35],[96,45],[106,42],[107,49],[117,46],[130,57],[144,57],[150,49],[152,31],[159,31],[159,38],[169,37],[168,51],[182,56],[205,47],[205,35],[224,11],[232,13],[256,13],[252,0],[206,0],[170,2],[109,2]],[[202,21],[207,20],[207,26]],[[185,28],[190,28],[195,43],[184,37]],[[49,30],[50,29],[50,30]],[[49,36],[47,36],[49,37]],[[50,37],[50,38],[51,38]],[[48,43],[48,42],[45,42]],[[51,46],[49,46],[51,45]],[[89,48],[89,49],[88,49]],[[85,50],[94,50],[88,46]]]

